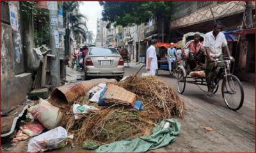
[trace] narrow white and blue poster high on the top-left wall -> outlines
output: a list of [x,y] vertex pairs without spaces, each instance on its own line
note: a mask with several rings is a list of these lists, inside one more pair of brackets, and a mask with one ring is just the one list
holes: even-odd
[[10,10],[10,22],[11,22],[12,29],[14,31],[19,31],[17,7],[14,4],[9,4],[9,10]]

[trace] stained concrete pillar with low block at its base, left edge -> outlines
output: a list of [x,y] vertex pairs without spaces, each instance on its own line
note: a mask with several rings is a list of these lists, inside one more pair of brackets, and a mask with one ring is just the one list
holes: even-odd
[[31,73],[15,75],[15,55],[10,25],[1,23],[1,110],[10,110],[26,101]]

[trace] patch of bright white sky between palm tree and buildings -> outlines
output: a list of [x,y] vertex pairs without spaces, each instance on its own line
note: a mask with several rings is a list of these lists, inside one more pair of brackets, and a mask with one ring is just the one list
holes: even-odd
[[97,34],[97,18],[101,18],[101,11],[103,10],[98,1],[84,1],[79,6],[79,12],[87,17],[88,31],[93,32],[93,39],[95,40]]

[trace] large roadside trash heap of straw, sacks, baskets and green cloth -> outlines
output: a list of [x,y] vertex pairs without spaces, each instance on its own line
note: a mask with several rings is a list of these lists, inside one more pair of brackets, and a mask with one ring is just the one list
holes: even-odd
[[20,127],[25,135],[13,142],[38,135],[29,140],[28,152],[67,144],[98,152],[147,151],[173,142],[180,133],[174,118],[182,118],[184,109],[175,90],[157,77],[83,81],[58,87],[30,106],[34,123]]

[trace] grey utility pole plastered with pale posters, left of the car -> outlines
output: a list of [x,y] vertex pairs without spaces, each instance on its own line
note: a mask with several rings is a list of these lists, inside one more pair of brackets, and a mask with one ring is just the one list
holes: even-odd
[[[51,22],[51,85],[52,88],[60,86],[60,52],[59,45],[59,31],[58,31],[58,4],[56,1],[48,2],[49,17]],[[56,9],[57,7],[57,9]]]

